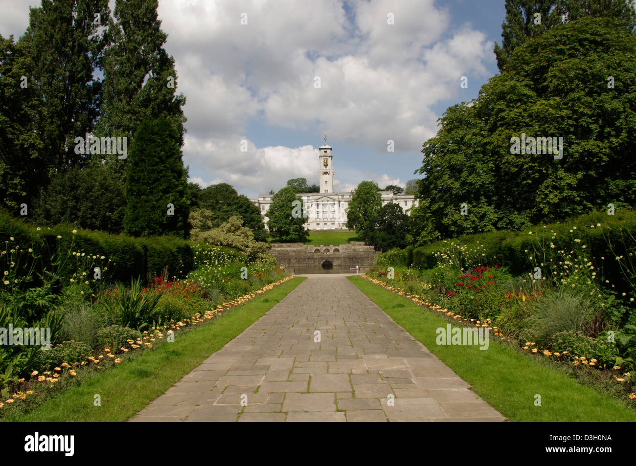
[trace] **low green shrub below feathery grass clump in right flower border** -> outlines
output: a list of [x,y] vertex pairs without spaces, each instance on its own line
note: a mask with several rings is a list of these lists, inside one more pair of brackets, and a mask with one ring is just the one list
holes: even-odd
[[588,360],[597,359],[597,366],[604,367],[613,367],[618,356],[618,348],[607,341],[607,338],[591,338],[583,332],[572,330],[556,333],[549,339],[546,347],[553,352],[566,351],[569,358],[583,356]]

